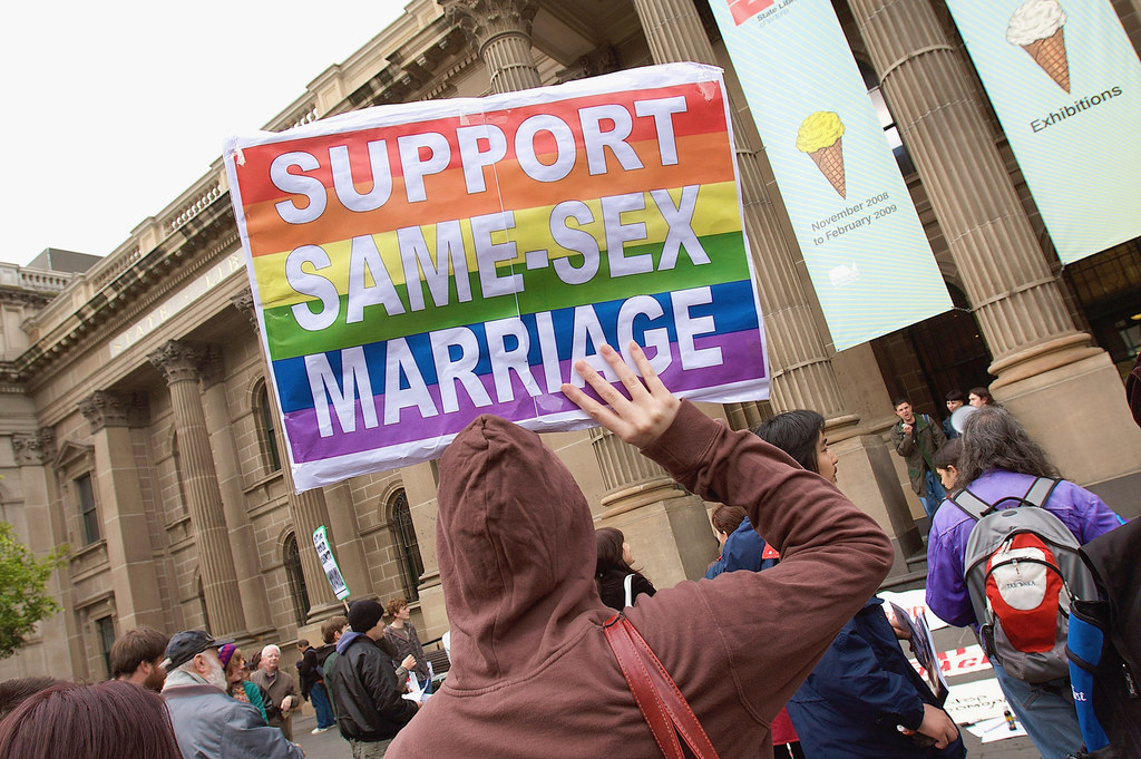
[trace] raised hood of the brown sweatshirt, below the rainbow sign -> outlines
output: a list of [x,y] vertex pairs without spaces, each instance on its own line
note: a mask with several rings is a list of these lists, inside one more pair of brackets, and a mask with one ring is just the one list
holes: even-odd
[[448,687],[533,675],[584,625],[609,616],[594,587],[590,508],[539,435],[479,417],[447,447],[439,473]]

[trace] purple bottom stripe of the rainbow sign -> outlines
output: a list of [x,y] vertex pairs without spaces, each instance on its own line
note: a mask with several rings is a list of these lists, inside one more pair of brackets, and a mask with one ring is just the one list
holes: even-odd
[[[678,346],[671,344],[670,350],[674,360],[662,372],[661,377],[665,386],[674,393],[685,394],[687,390],[697,388],[707,389],[720,385],[764,379],[762,347],[754,330],[697,338],[694,340],[694,347],[699,353],[720,350],[721,361],[713,366],[682,369],[678,358]],[[570,377],[572,371],[569,361],[559,363],[559,373],[564,380]],[[543,368],[533,366],[532,373],[535,383],[545,391]],[[359,403],[357,403],[355,407],[356,430],[353,433],[341,431],[337,413],[330,407],[329,413],[334,431],[329,437],[321,437],[315,409],[290,412],[285,415],[285,427],[289,431],[289,439],[292,442],[293,460],[297,463],[315,462],[334,457],[364,453],[372,449],[452,436],[462,430],[472,419],[485,413],[520,422],[577,409],[560,391],[532,397],[515,372],[510,373],[510,378],[515,398],[512,401],[496,402],[497,393],[494,377],[484,374],[476,379],[483,386],[487,397],[493,401],[489,405],[476,406],[463,386],[460,382],[454,382],[459,406],[456,411],[421,417],[419,409],[410,406],[400,410],[399,423],[388,426],[383,423],[385,395],[373,396],[377,419],[380,423],[377,427],[366,428],[364,414]],[[593,390],[589,388],[588,391],[594,395]],[[434,407],[436,410],[443,409],[439,386],[430,386],[428,394]]]

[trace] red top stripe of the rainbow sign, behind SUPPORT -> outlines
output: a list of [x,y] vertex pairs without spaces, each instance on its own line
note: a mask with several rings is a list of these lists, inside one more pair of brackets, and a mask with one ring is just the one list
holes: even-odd
[[[280,155],[305,152],[316,159],[318,168],[301,171],[294,167],[292,172],[304,173],[307,177],[319,180],[325,187],[332,187],[333,178],[332,170],[330,169],[329,151],[338,146],[347,147],[348,161],[354,179],[371,179],[372,167],[370,164],[369,143],[383,139],[387,140],[385,154],[388,156],[389,171],[395,181],[403,173],[397,147],[399,137],[429,132],[437,132],[447,139],[451,148],[448,169],[459,169],[461,161],[456,129],[484,123],[493,124],[503,131],[507,138],[507,153],[502,161],[513,161],[516,160],[515,134],[519,124],[526,119],[540,114],[552,114],[565,122],[574,135],[575,145],[582,150],[584,138],[578,111],[600,105],[618,105],[631,114],[632,129],[630,136],[626,138],[629,143],[656,142],[657,126],[655,119],[650,116],[637,116],[633,104],[636,100],[642,102],[677,96],[686,98],[686,111],[669,116],[671,128],[677,137],[683,138],[694,135],[726,131],[725,105],[720,90],[713,83],[683,84],[653,90],[592,95],[590,97],[572,98],[507,111],[494,111],[485,114],[468,114],[447,119],[416,121],[394,127],[362,129],[351,132],[339,132],[335,135],[307,137],[304,139],[246,147],[242,151],[244,163],[236,167],[237,180],[242,191],[242,200],[245,203],[260,203],[267,200],[286,197],[289,193],[278,189],[270,180],[270,165]],[[602,131],[607,131],[610,128],[613,128],[612,121],[604,120],[601,122]],[[555,139],[548,131],[539,131],[535,135],[534,145],[535,153],[540,155],[552,155],[555,153]],[[483,148],[486,148],[486,143],[483,144]]]

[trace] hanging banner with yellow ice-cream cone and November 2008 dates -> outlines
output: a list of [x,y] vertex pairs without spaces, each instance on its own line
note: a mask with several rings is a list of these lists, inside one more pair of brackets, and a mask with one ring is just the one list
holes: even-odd
[[828,0],[713,0],[836,350],[950,296]]

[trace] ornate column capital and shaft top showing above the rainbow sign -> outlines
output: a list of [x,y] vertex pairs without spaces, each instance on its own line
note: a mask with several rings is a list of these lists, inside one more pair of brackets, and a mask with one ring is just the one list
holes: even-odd
[[531,56],[531,23],[537,0],[442,0],[447,17],[479,51],[491,73],[493,92],[539,87],[539,68]]

